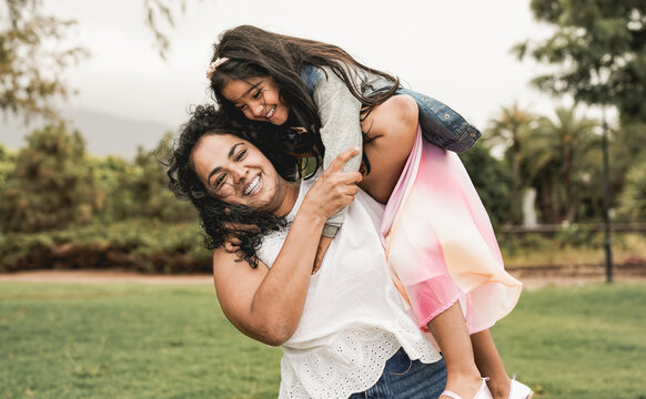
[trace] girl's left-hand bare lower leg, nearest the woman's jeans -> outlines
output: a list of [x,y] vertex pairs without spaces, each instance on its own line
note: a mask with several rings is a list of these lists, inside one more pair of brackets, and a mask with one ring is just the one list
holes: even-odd
[[475,365],[474,350],[460,303],[435,316],[428,323],[428,329],[446,364],[446,389],[462,398],[473,398],[482,385],[482,378]]

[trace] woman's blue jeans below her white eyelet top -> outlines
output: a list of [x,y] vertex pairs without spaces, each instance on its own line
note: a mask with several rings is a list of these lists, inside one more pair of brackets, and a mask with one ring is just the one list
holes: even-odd
[[403,348],[386,362],[378,381],[350,399],[434,399],[446,386],[444,359],[434,364],[411,360]]

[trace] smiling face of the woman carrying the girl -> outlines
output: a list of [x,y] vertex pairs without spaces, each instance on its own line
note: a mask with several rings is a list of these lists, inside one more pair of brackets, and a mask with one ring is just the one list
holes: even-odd
[[191,155],[213,196],[232,205],[283,215],[287,183],[253,144],[231,134],[204,135]]

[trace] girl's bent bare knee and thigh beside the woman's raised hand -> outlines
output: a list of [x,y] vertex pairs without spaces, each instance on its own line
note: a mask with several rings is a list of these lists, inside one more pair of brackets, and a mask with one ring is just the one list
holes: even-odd
[[367,139],[363,149],[371,171],[359,185],[382,204],[388,201],[413,149],[417,116],[413,98],[395,95],[376,106],[361,123]]

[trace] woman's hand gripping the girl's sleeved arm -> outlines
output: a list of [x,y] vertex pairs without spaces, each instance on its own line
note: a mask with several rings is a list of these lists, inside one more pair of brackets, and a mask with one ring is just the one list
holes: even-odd
[[359,149],[347,149],[332,163],[303,200],[302,208],[320,215],[325,221],[339,209],[349,205],[359,192],[356,185],[362,180],[359,172],[343,172],[343,165],[359,154]]

